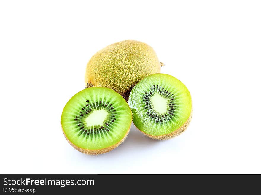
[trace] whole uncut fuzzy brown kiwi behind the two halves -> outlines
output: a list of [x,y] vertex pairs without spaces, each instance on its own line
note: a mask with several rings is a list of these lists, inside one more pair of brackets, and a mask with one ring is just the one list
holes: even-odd
[[128,100],[130,90],[144,77],[160,72],[155,51],[146,43],[125,40],[94,54],[86,67],[86,87],[107,87]]

